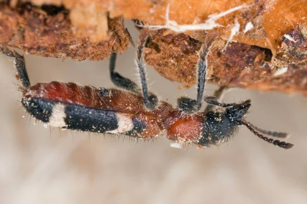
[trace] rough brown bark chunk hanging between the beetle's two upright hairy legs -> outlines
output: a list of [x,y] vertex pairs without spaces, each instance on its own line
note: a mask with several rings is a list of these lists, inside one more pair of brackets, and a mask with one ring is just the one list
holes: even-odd
[[163,77],[190,87],[196,80],[197,53],[202,43],[183,33],[163,34],[164,30],[150,32],[145,61]]

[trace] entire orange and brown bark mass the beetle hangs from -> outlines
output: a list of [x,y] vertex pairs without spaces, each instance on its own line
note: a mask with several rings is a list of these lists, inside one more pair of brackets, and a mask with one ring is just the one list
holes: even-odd
[[[172,21],[166,21],[167,6]],[[29,54],[102,60],[129,46],[123,18],[138,19],[144,27],[161,25],[149,31],[147,63],[184,87],[195,84],[199,50],[214,41],[209,82],[307,95],[307,1],[23,0],[3,1],[0,8],[0,44]],[[221,15],[213,22],[221,26],[186,29],[212,14]]]

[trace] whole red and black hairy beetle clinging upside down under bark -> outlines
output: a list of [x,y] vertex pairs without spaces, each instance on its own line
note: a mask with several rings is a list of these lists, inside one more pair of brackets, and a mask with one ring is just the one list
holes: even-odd
[[[203,148],[226,143],[239,126],[246,126],[264,141],[284,149],[293,147],[291,143],[267,137],[286,138],[287,133],[262,130],[245,119],[251,107],[250,99],[239,104],[221,103],[227,87],[216,90],[213,96],[203,97],[207,56],[214,40],[199,51],[196,99],[181,96],[177,106],[172,107],[149,92],[143,53],[147,40],[147,36],[140,38],[136,55],[141,87],[115,71],[116,53],[110,56],[109,73],[117,88],[107,89],[56,81],[31,85],[24,57],[6,46],[0,50],[14,58],[22,85],[21,105],[32,117],[53,127],[124,135],[136,140],[166,137],[179,146],[195,144]],[[203,99],[208,106],[201,111]]]

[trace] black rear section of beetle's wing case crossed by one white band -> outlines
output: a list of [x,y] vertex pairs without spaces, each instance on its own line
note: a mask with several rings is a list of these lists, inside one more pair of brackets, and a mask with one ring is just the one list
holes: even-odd
[[[93,109],[45,98],[23,98],[21,103],[34,118],[55,127],[97,133],[116,131],[119,128],[118,116],[111,110]],[[130,124],[126,122],[126,129],[132,130],[131,123],[132,121]]]

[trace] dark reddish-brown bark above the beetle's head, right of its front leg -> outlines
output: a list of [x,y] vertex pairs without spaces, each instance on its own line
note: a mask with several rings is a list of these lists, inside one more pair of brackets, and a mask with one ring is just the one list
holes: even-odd
[[[231,43],[224,52],[223,45],[212,47],[208,56],[211,62],[209,78],[219,85],[264,91],[279,90],[307,95],[307,63],[277,67],[272,63],[270,49],[243,43]],[[284,73],[278,73],[284,69]]]

